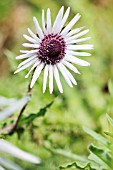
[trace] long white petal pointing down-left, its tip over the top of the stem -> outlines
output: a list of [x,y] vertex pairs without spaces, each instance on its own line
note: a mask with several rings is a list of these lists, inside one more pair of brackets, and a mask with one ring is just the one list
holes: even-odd
[[31,80],[30,88],[34,86],[43,68],[44,68],[44,63],[41,63],[36,67],[35,72],[33,74],[33,78]]

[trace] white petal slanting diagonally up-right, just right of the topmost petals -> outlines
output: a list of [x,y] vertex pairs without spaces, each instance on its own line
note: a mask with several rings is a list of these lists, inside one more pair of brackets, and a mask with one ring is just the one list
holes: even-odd
[[73,27],[73,25],[80,19],[80,14],[78,13],[69,24],[62,30],[61,35],[65,36],[69,30]]

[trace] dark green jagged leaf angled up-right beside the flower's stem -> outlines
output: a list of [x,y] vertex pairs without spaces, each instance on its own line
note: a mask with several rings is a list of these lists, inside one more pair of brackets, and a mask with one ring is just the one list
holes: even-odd
[[41,108],[39,110],[38,113],[31,113],[29,116],[25,117],[22,116],[20,121],[19,121],[19,125],[21,126],[22,124],[27,124],[29,125],[31,122],[33,122],[34,119],[36,119],[37,117],[42,117],[46,114],[47,109],[51,107],[51,105],[53,104],[53,101],[50,102],[49,104],[47,104],[45,107]]

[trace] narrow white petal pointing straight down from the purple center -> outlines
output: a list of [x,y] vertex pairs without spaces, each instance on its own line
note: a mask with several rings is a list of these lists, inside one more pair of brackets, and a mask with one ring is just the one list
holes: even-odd
[[53,66],[49,65],[49,92],[52,94],[53,92]]

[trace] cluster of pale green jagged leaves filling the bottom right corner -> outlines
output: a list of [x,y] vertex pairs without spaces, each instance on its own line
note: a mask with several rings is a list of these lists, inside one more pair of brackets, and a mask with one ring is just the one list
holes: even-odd
[[[110,122],[111,126],[113,126],[113,119],[107,115],[107,119]],[[83,156],[78,156],[72,153],[68,153],[63,150],[55,150],[51,149],[51,147],[47,147],[50,151],[61,154],[71,159],[74,159],[74,162],[67,163],[66,165],[62,165],[60,169],[69,169],[72,167],[76,167],[77,169],[84,170],[112,170],[112,162],[113,162],[113,154],[111,153],[111,145],[113,145],[107,138],[102,135],[94,132],[91,129],[84,128],[84,131],[91,135],[95,140],[97,145],[89,144],[88,150],[90,154],[88,157],[84,158]],[[111,137],[111,134],[107,133]]]

